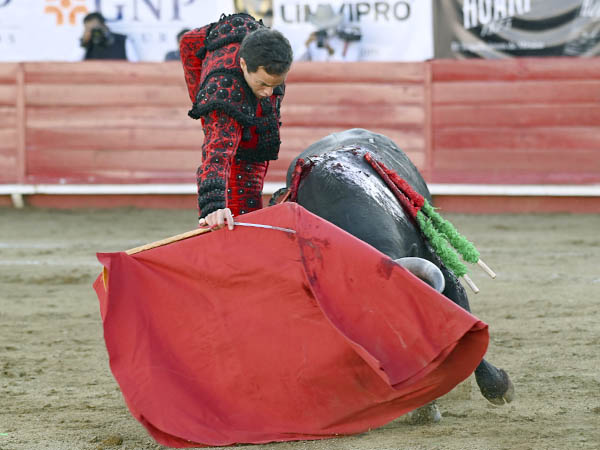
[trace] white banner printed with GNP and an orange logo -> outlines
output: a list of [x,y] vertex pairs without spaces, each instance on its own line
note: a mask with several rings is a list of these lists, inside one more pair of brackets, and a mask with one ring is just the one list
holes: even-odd
[[99,11],[141,61],[163,61],[183,28],[233,13],[233,0],[0,0],[0,61],[75,61],[83,17]]

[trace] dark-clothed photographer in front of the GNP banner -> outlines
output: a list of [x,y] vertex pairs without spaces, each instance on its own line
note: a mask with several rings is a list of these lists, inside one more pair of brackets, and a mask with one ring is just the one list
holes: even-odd
[[127,36],[110,31],[104,16],[99,12],[85,16],[83,25],[80,42],[85,53],[79,59],[123,59],[132,62],[139,60]]

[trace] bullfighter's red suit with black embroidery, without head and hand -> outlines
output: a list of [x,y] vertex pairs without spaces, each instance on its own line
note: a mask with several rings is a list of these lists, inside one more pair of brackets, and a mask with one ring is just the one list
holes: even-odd
[[244,36],[263,26],[248,14],[223,15],[181,39],[193,102],[188,114],[202,119],[205,135],[197,172],[200,217],[225,207],[243,214],[262,205],[268,161],[277,159],[281,143],[284,88],[259,101],[244,78],[239,49]]

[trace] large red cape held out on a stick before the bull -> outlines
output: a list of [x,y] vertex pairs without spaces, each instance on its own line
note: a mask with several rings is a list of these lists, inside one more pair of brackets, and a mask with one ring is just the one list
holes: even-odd
[[131,413],[172,447],[320,439],[449,392],[487,325],[294,203],[129,256],[99,253],[110,366]]

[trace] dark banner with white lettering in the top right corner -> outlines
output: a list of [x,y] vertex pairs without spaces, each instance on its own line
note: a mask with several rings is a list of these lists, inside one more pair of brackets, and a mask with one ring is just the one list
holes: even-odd
[[595,56],[600,0],[439,0],[436,58]]

